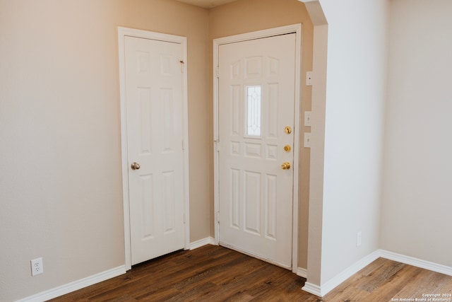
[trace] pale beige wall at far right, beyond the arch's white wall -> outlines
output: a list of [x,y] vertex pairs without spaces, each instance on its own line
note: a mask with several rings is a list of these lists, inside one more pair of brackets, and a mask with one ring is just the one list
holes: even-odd
[[451,11],[450,0],[391,1],[381,211],[381,248],[447,267],[452,267]]

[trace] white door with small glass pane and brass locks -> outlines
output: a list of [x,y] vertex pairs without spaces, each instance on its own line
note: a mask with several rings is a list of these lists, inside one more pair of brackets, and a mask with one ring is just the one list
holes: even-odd
[[292,267],[295,41],[294,33],[219,46],[219,242],[286,268]]

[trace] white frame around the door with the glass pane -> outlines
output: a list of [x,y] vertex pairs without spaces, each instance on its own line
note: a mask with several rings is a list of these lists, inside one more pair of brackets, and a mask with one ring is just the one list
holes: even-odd
[[299,151],[300,151],[300,138],[301,133],[299,133],[300,127],[300,108],[301,108],[301,59],[302,59],[302,25],[294,24],[287,25],[278,28],[270,28],[268,30],[259,30],[253,33],[244,33],[242,35],[232,35],[229,37],[220,37],[213,40],[213,161],[214,161],[214,211],[215,211],[215,243],[218,244],[219,241],[219,227],[218,227],[218,209],[220,207],[219,200],[219,155],[218,150],[220,146],[220,141],[218,137],[218,47],[222,44],[228,44],[232,42],[242,42],[246,40],[253,40],[262,37],[271,37],[274,35],[284,35],[287,33],[295,33],[296,43],[295,43],[295,136],[294,136],[294,185],[293,185],[293,200],[292,200],[292,272],[297,273],[298,269],[298,175],[299,175]]

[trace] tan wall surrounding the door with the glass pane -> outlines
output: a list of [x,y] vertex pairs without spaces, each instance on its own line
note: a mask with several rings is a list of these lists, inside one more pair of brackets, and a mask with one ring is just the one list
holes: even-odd
[[[302,23],[302,112],[311,110],[311,87],[305,86],[306,72],[312,69],[313,25],[304,4],[297,0],[240,0],[209,11],[209,57],[210,69],[213,70],[213,39],[249,33],[256,30],[275,28],[283,25]],[[209,95],[213,95],[213,79],[210,77]],[[212,104],[209,104],[213,112]],[[304,115],[302,115],[304,118]],[[210,117],[210,123],[212,117]],[[310,132],[310,127],[302,126],[300,133]],[[213,133],[210,132],[210,138]],[[213,154],[213,151],[210,151]],[[213,165],[212,156],[210,165]],[[213,179],[213,171],[210,170]],[[300,150],[299,175],[299,263],[298,267],[307,268],[307,237],[308,237],[308,203],[309,203],[309,149]],[[213,188],[213,182],[210,185]],[[213,200],[213,192],[211,200]],[[213,217],[213,203],[210,205],[210,215]],[[213,219],[210,232],[213,236]]]

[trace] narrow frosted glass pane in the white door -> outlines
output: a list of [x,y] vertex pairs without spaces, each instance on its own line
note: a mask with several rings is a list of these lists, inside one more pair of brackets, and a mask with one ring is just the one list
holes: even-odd
[[261,137],[261,86],[246,86],[246,135]]

